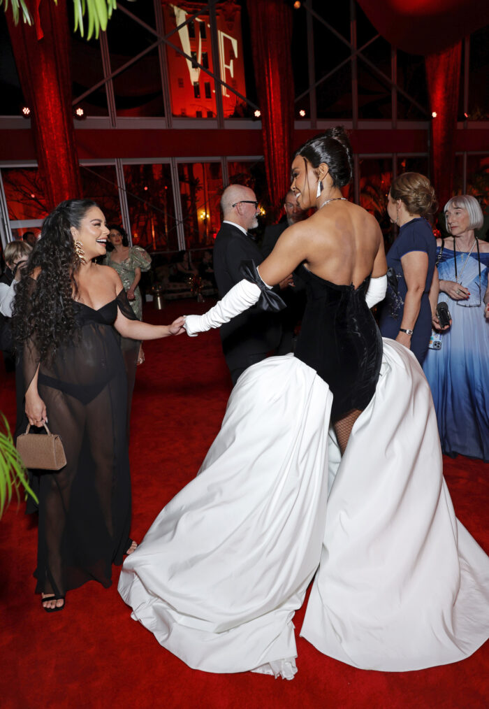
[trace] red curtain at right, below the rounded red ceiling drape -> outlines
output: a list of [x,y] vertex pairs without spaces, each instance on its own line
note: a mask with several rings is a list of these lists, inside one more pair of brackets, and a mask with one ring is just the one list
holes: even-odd
[[426,76],[432,118],[432,183],[440,208],[451,197],[455,169],[455,133],[459,106],[462,43],[426,57]]

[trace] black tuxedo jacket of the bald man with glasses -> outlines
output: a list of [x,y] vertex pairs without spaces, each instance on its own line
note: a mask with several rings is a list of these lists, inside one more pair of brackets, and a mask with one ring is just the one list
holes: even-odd
[[[251,237],[232,224],[223,224],[215,238],[214,275],[219,295],[225,296],[232,286],[242,280],[240,265],[252,260],[262,263],[262,252]],[[281,337],[280,318],[257,306],[232,318],[220,328],[223,352],[230,370],[247,367],[250,354],[274,350]]]

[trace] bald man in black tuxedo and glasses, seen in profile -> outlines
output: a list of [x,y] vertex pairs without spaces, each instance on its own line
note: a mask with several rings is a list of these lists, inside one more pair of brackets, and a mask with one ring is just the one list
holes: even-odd
[[[259,265],[262,252],[249,229],[258,226],[258,201],[254,191],[240,184],[228,186],[221,197],[223,223],[215,238],[214,274],[221,298],[242,280],[240,265],[254,261]],[[220,337],[232,384],[242,372],[276,349],[281,338],[280,318],[257,306],[249,308],[220,328]]]

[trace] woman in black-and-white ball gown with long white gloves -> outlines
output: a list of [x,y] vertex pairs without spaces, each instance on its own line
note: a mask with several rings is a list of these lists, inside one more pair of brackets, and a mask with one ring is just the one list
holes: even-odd
[[369,311],[386,259],[374,218],[342,198],[342,128],[305,143],[292,174],[315,214],[186,330],[277,307],[265,284],[301,264],[296,353],[240,376],[198,476],[125,560],[120,594],[163,647],[209,672],[292,679],[293,615],[314,575],[301,634],[321,652],[392,671],[463,659],[489,636],[489,558],[455,518],[422,370]]

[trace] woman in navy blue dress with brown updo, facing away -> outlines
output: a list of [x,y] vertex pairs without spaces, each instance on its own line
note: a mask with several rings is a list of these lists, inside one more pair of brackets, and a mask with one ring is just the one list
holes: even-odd
[[400,230],[387,255],[388,289],[380,328],[383,337],[412,350],[420,364],[432,333],[428,294],[437,247],[426,217],[435,206],[434,189],[424,175],[405,172],[390,186],[387,211]]

